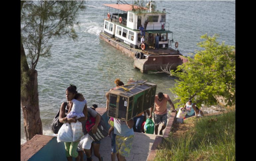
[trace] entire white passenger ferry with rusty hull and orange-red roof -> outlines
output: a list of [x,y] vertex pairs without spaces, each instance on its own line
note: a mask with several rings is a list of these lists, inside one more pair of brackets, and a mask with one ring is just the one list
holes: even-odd
[[[141,72],[161,70],[164,68],[176,69],[178,65],[188,61],[178,48],[175,48],[173,32],[169,31],[166,22],[166,11],[152,11],[129,4],[103,4],[104,30],[100,38],[110,45],[129,54],[134,58],[134,68]],[[143,27],[141,32],[139,29]],[[168,39],[171,34],[172,40]],[[159,49],[155,48],[155,37],[159,35]],[[144,41],[141,42],[142,36]],[[153,36],[153,37],[152,37]]]

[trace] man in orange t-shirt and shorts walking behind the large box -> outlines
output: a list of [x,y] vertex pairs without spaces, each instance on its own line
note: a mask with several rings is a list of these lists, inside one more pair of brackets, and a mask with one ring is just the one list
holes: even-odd
[[[167,102],[170,103],[171,108],[175,110],[174,104],[172,103],[170,97],[167,94],[159,92],[155,96],[155,111],[154,111],[154,122],[155,122],[155,134],[158,134],[158,126],[162,122],[163,126],[159,131],[159,135],[163,135],[163,130],[167,124]],[[151,108],[149,118],[152,119],[152,111],[154,107]]]

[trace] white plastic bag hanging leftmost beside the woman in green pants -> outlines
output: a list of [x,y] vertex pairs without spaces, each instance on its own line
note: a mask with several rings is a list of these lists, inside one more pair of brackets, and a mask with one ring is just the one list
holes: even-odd
[[64,123],[57,136],[57,141],[58,142],[72,142],[73,141],[73,133],[72,133],[72,128],[69,123]]

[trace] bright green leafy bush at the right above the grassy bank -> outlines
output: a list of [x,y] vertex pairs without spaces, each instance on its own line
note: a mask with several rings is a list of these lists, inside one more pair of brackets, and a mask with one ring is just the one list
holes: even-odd
[[197,45],[204,48],[197,51],[194,59],[177,67],[172,76],[179,79],[170,90],[183,106],[189,99],[199,106],[216,105],[216,96],[223,96],[227,105],[235,105],[235,46],[219,44],[218,35],[201,36],[204,41]]

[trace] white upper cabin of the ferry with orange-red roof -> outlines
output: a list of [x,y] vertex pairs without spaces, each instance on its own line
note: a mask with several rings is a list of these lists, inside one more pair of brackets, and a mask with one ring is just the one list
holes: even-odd
[[[169,31],[169,23],[166,22],[165,10],[150,12],[149,9],[141,8],[139,12],[134,11],[129,4],[104,4],[104,6],[104,34],[133,48],[138,48],[142,35],[145,35],[145,44],[149,47],[154,46],[157,34],[159,34],[159,47],[168,47],[168,44],[173,42],[168,40],[168,33],[172,34],[172,32]],[[141,25],[145,33],[142,32],[142,35],[139,31]]]

